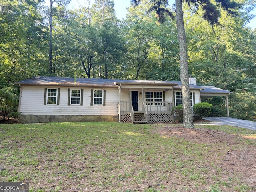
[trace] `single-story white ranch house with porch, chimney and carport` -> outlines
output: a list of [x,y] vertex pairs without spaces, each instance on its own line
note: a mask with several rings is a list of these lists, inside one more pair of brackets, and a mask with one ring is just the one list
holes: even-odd
[[[231,93],[196,85],[190,78],[191,106]],[[182,104],[178,81],[113,80],[36,76],[20,86],[20,122],[173,122],[172,107]],[[226,102],[228,109],[228,100]],[[228,110],[227,110],[228,112]]]

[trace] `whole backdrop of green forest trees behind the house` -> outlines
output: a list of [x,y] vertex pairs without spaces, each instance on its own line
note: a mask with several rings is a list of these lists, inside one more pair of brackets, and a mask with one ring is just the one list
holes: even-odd
[[[256,1],[235,1],[238,16],[219,8],[214,26],[183,5],[189,74],[233,92],[230,116],[256,120],[256,29],[248,26]],[[160,24],[151,1],[141,2],[120,20],[111,0],[72,9],[70,0],[0,0],[0,110],[18,115],[13,83],[31,76],[179,81],[176,22]],[[206,101],[211,116],[226,115],[225,99]]]

